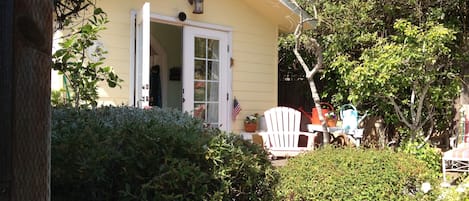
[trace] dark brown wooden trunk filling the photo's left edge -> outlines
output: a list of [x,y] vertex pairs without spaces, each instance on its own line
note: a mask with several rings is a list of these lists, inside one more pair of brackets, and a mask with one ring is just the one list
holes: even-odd
[[50,0],[0,2],[0,201],[50,200]]

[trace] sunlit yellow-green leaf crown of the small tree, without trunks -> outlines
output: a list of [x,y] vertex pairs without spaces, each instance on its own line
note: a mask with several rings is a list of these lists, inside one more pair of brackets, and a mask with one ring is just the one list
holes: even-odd
[[381,39],[365,49],[359,60],[344,58],[335,62],[334,66],[343,66],[342,71],[348,72],[345,84],[352,87],[349,99],[368,99],[375,93],[386,97],[409,94],[415,84],[421,90],[437,78],[446,78],[451,69],[438,65],[446,61],[444,57],[450,50],[445,45],[454,35],[441,25],[429,26],[422,30],[407,21],[397,21],[395,28],[400,34],[393,35],[393,40]]

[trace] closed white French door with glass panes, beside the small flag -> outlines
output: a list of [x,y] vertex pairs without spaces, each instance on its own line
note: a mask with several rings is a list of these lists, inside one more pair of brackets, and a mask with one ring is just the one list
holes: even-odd
[[210,127],[229,129],[228,33],[183,29],[183,110]]

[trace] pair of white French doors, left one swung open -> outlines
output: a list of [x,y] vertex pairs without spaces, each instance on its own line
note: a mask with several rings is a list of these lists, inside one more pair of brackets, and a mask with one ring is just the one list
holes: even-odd
[[[150,3],[135,14],[133,105],[149,106]],[[210,127],[228,131],[231,123],[229,33],[183,25],[182,109]],[[168,92],[170,93],[170,92]],[[133,94],[133,95],[132,95]]]

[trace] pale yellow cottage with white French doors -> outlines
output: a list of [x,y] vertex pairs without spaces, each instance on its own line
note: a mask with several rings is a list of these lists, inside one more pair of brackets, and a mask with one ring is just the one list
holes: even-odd
[[[188,111],[226,131],[277,105],[277,39],[301,10],[290,0],[99,0],[100,42],[124,80],[100,104]],[[232,120],[233,99],[243,107]]]

